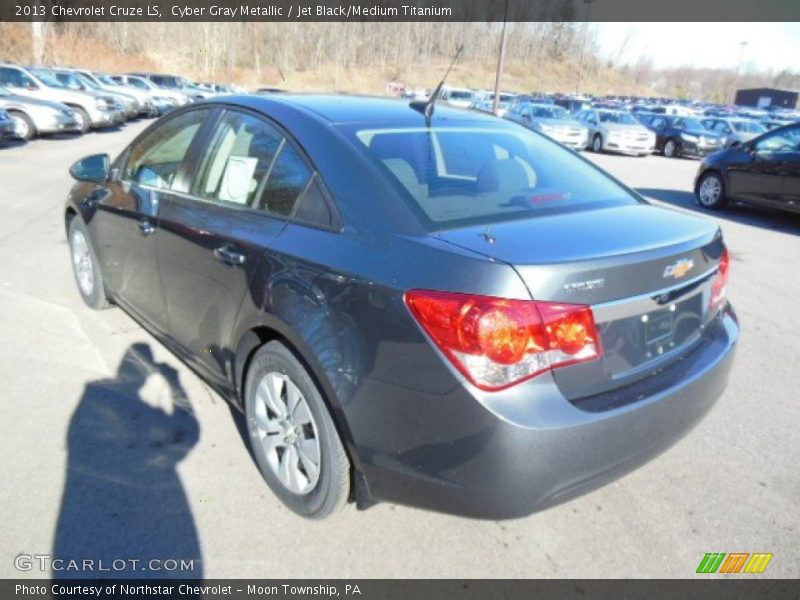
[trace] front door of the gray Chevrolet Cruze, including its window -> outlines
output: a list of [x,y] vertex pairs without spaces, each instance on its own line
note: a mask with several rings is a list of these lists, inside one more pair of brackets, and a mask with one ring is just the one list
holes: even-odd
[[187,157],[210,114],[194,110],[161,121],[131,144],[108,185],[90,197],[97,204],[90,227],[109,291],[161,333],[167,320],[157,260],[159,209],[173,191],[185,189]]

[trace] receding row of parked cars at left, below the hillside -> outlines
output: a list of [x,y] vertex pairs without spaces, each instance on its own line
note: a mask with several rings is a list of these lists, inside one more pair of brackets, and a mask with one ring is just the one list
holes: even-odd
[[0,63],[0,138],[87,133],[236,91],[174,75]]

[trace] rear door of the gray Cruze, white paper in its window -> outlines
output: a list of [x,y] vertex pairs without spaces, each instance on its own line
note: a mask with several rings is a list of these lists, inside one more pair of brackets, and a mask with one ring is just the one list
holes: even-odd
[[312,170],[281,130],[245,111],[226,111],[205,146],[189,193],[161,205],[159,261],[172,338],[224,387],[239,307],[254,277],[279,268],[265,250]]

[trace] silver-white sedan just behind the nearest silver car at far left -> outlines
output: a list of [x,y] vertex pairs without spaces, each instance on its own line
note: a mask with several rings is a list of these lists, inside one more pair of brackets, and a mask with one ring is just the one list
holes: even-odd
[[66,104],[75,111],[83,133],[92,127],[111,127],[122,119],[122,111],[111,96],[71,90],[46,70],[0,63],[0,85],[19,96]]

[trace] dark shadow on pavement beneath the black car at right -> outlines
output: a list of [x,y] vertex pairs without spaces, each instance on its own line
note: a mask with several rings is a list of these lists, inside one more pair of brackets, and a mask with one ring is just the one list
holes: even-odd
[[636,191],[645,198],[666,202],[707,217],[772,229],[781,233],[800,235],[800,215],[798,214],[752,206],[741,202],[731,202],[726,208],[713,211],[706,210],[697,204],[692,192],[654,188],[636,188]]

